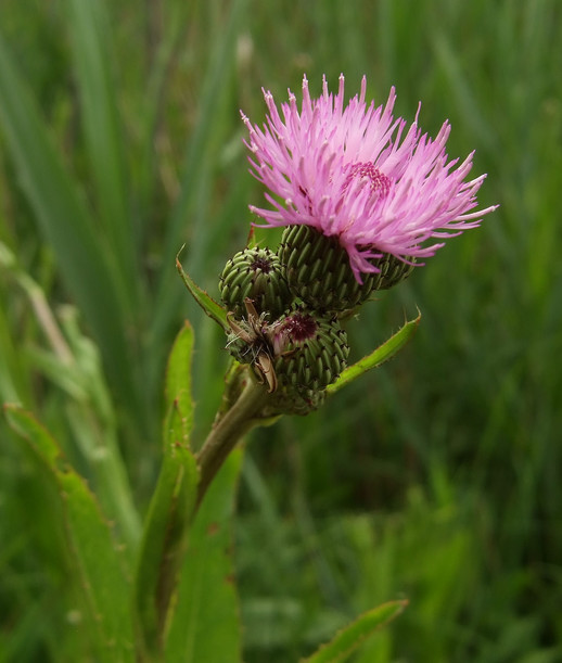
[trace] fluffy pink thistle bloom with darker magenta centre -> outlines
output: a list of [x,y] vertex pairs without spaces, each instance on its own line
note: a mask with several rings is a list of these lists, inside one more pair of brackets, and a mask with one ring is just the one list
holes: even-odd
[[344,107],[343,75],[335,97],[324,77],[318,99],[310,99],[305,76],[301,109],[289,90],[281,116],[264,90],[267,124],[259,128],[242,114],[251,173],[269,189],[273,207],[251,211],[265,227],[306,225],[336,237],[359,283],[361,273],[379,271],[370,259],[389,253],[410,264],[432,256],[444,243],[424,242],[475,228],[497,207],[471,212],[486,176],[464,181],[473,152],[460,165],[448,161],[448,122],[435,139],[422,135],[418,107],[404,135],[406,120],[393,117],[394,87],[379,107],[367,106],[366,88],[363,76],[359,95]]

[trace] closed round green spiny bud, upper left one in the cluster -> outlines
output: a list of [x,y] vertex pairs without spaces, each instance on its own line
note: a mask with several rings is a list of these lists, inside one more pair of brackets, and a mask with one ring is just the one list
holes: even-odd
[[292,303],[279,257],[269,248],[245,248],[230,258],[219,282],[222,303],[234,317],[245,316],[244,301],[250,298],[258,314],[279,318]]

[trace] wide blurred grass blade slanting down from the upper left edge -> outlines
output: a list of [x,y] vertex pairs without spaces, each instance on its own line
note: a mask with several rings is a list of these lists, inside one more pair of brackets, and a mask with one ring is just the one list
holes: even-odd
[[124,304],[88,208],[0,36],[0,124],[37,222],[102,350],[112,380],[135,397]]

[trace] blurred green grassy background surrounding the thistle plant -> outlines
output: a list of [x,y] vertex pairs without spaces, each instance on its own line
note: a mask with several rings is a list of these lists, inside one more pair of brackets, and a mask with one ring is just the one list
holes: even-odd
[[[35,411],[103,503],[142,512],[163,367],[195,327],[197,435],[225,344],[174,268],[217,295],[245,242],[239,110],[341,72],[355,94],[476,150],[481,229],[349,326],[398,358],[305,419],[257,431],[234,559],[244,660],[297,660],[381,602],[407,611],[356,662],[562,660],[562,5],[559,0],[2,0],[0,399]],[[277,234],[264,233],[274,245]],[[77,661],[52,496],[0,422],[0,661]],[[127,474],[99,470],[100,439]],[[136,511],[116,518],[138,531]],[[129,519],[129,520],[127,520]]]

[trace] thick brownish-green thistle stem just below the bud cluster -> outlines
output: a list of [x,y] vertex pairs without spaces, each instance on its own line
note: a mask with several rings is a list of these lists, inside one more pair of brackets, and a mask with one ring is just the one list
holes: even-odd
[[254,426],[259,425],[259,412],[268,398],[266,388],[248,379],[238,400],[214,425],[197,454],[201,471],[197,506],[237,442]]

